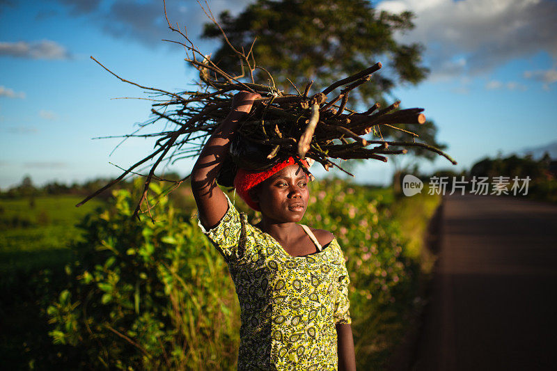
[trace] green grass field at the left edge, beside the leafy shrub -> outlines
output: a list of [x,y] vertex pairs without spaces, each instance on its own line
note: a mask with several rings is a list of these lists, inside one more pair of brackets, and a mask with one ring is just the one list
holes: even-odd
[[[102,205],[79,196],[0,199],[0,359],[10,370],[54,367],[56,352],[44,310],[65,280],[75,223]],[[35,364],[37,354],[44,355]]]

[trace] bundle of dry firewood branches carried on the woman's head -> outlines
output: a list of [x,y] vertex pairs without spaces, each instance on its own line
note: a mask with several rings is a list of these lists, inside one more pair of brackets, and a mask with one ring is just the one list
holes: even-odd
[[[217,24],[210,10],[207,11],[207,16]],[[151,109],[153,116],[143,124],[143,127],[155,127],[155,124],[161,120],[165,125],[162,131],[123,136],[125,139],[134,136],[155,137],[157,141],[153,151],[148,156],[129,168],[123,169],[120,177],[112,180],[78,205],[120,182],[127,175],[138,174],[146,177],[146,181],[143,195],[134,213],[137,216],[141,212],[141,205],[146,200],[148,201],[151,180],[164,180],[155,175],[157,168],[161,164],[173,164],[180,159],[197,157],[205,141],[228,115],[232,97],[240,90],[262,95],[258,102],[254,104],[248,118],[240,126],[239,132],[244,140],[263,145],[263,148],[269,149],[268,152],[260,154],[262,160],[269,163],[272,163],[273,159],[288,156],[301,159],[310,157],[320,163],[327,171],[332,166],[345,171],[340,164],[334,161],[335,159],[387,161],[384,155],[404,154],[407,152],[406,148],[421,147],[436,152],[456,164],[456,161],[438,148],[427,145],[427,143],[417,142],[417,134],[396,126],[398,124],[421,125],[425,123],[423,109],[398,109],[400,102],[395,102],[384,109],[381,109],[379,104],[376,103],[364,112],[357,112],[347,106],[350,92],[361,84],[368,83],[372,73],[377,72],[382,67],[381,63],[376,63],[366,70],[335,81],[328,88],[317,93],[310,93],[312,85],[312,81],[310,81],[304,89],[298,89],[297,86],[292,84],[296,93],[287,94],[276,88],[271,74],[269,74],[268,85],[256,84],[253,79],[253,71],[256,69],[256,65],[251,49],[244,52],[244,49],[233,47],[224,33],[224,39],[228,42],[230,49],[237,54],[242,65],[242,71],[245,71],[242,76],[233,76],[221,70],[217,63],[211,61],[209,56],[202,54],[194,46],[187,37],[185,30],[182,31],[170,22],[168,22],[168,26],[172,31],[182,36],[182,41],[172,42],[185,47],[187,54],[185,61],[199,71],[200,79],[196,90],[172,93],[158,88],[141,86],[119,77],[91,57],[118,79],[139,86],[153,94],[150,98],[153,101]],[[242,81],[242,78],[245,77],[251,82]],[[386,141],[382,137],[381,140],[363,138],[366,134],[375,132],[376,129],[380,132],[382,125],[407,133],[410,140]],[[305,171],[308,171],[301,162],[299,164]],[[139,174],[136,172],[137,169],[145,167],[149,168],[148,173]],[[168,182],[180,184],[185,179],[187,177],[178,181],[168,180]],[[147,202],[146,210],[148,210],[148,205]]]

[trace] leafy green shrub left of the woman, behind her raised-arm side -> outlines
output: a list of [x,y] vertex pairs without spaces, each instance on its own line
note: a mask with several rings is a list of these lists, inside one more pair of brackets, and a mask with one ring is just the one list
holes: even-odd
[[114,197],[81,223],[70,285],[47,310],[54,342],[84,352],[93,369],[233,368],[235,290],[197,219],[161,198],[155,222],[132,220],[130,192]]

